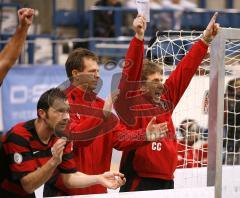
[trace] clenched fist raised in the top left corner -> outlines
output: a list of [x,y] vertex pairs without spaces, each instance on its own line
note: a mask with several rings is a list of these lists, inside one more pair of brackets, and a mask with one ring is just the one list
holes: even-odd
[[34,9],[22,8],[18,10],[20,27],[29,27],[33,22]]

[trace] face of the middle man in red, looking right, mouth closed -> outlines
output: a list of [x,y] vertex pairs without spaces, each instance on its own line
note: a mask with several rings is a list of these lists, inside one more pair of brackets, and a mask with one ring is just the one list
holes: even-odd
[[84,58],[84,69],[78,73],[78,85],[84,89],[93,91],[96,89],[99,80],[99,65],[91,58]]

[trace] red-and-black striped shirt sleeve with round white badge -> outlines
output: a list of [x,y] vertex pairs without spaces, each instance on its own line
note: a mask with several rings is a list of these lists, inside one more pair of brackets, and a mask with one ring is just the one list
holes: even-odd
[[20,180],[38,168],[30,150],[29,141],[11,132],[3,144],[13,180]]

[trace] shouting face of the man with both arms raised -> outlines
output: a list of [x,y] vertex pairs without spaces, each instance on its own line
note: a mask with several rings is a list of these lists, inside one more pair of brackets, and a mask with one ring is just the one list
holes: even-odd
[[143,88],[154,102],[159,103],[163,92],[163,77],[160,73],[156,72],[147,77],[147,81]]

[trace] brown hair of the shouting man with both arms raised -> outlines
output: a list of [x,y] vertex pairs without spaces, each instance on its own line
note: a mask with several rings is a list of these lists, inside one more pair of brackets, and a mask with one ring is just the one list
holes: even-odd
[[163,68],[161,65],[154,63],[148,59],[143,61],[143,69],[141,73],[141,80],[146,81],[149,75],[160,73],[163,75]]

